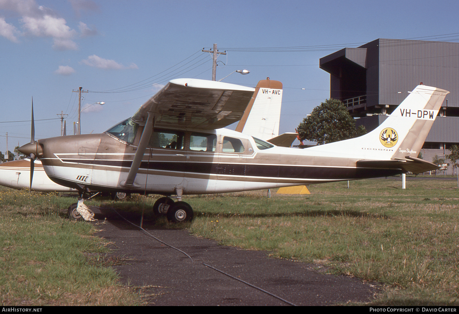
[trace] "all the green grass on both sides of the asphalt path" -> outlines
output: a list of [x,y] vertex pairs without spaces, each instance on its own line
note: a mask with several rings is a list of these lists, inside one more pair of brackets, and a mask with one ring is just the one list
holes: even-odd
[[[457,181],[368,179],[308,186],[310,195],[253,191],[185,196],[187,224],[149,212],[157,196],[113,203],[134,223],[186,228],[222,245],[266,250],[331,274],[380,283],[372,305],[459,305]],[[92,224],[65,216],[74,198],[0,190],[0,295],[3,305],[139,304],[104,260]],[[100,200],[86,202],[99,205]],[[137,213],[137,214],[136,214]],[[137,221],[135,221],[137,219]],[[96,225],[97,226],[97,225]]]

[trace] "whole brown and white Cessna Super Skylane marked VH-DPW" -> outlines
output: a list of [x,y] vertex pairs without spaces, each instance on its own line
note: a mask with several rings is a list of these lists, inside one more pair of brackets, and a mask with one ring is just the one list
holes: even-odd
[[[275,81],[273,81],[275,82]],[[268,93],[277,93],[267,80]],[[254,92],[255,91],[255,92]],[[38,157],[58,184],[80,191],[74,217],[92,219],[84,191],[162,194],[171,221],[193,217],[182,195],[259,190],[437,169],[415,156],[448,91],[417,86],[375,130],[307,149],[274,146],[223,127],[241,119],[259,90],[174,79],[129,119],[102,134],[43,139],[20,151]],[[176,195],[174,202],[169,196]]]

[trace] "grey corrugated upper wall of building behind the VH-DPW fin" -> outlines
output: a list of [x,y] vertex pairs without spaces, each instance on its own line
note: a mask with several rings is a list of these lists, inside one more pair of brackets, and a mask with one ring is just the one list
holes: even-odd
[[[398,105],[422,82],[450,91],[448,107],[459,107],[459,43],[377,39],[362,47],[369,54],[369,84],[378,76],[379,104]],[[370,66],[376,59],[378,73]],[[368,92],[373,86],[368,85]]]

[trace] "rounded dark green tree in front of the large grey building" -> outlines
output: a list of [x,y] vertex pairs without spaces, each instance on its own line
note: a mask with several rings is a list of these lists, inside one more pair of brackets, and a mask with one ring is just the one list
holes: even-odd
[[318,145],[347,140],[367,133],[364,126],[356,128],[354,118],[337,99],[326,99],[313,109],[310,116],[298,125],[301,140],[317,142]]

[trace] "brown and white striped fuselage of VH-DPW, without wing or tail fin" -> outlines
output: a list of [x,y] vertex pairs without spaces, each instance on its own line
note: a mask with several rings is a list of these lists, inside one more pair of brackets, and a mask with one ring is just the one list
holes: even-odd
[[355,155],[324,156],[314,150],[273,146],[229,129],[158,129],[135,177],[140,187],[127,190],[120,182],[129,172],[141,127],[130,133],[115,131],[39,140],[46,174],[60,185],[80,190],[172,195],[181,189],[186,195],[402,173],[401,169],[359,168]]

